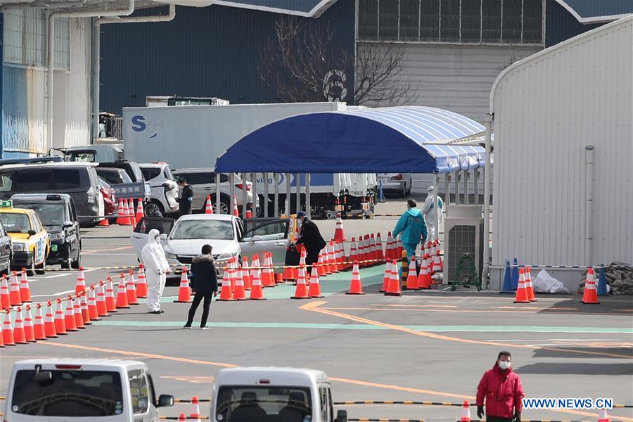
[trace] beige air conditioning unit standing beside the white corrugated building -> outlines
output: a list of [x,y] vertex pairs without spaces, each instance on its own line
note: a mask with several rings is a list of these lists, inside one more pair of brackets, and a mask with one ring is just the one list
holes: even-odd
[[450,205],[444,222],[444,283],[455,281],[463,255],[473,257],[481,277],[483,264],[482,205]]

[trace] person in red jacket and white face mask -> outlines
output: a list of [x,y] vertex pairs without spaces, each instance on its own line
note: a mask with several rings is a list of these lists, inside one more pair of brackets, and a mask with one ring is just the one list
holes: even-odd
[[523,410],[523,385],[512,371],[510,352],[499,352],[497,362],[484,373],[477,387],[477,416],[487,422],[520,422]]

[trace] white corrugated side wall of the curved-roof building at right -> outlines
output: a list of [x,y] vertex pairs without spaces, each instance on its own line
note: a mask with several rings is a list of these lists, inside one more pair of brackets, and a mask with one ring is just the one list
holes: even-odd
[[[492,264],[633,262],[633,17],[517,63],[494,108]],[[593,256],[585,146],[595,146]]]

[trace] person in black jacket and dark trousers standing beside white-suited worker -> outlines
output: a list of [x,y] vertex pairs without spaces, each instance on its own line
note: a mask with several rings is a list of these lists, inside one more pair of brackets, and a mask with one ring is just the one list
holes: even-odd
[[191,262],[191,283],[193,291],[193,302],[189,308],[187,323],[183,328],[191,328],[193,316],[200,305],[201,300],[205,300],[203,305],[203,316],[200,319],[200,328],[207,330],[207,318],[209,317],[209,307],[211,306],[211,296],[217,295],[217,273],[215,271],[215,261],[211,255],[211,245],[204,245],[202,253],[193,258]]

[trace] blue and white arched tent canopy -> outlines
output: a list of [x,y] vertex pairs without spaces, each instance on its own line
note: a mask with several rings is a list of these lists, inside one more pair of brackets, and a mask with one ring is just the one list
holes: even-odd
[[216,162],[217,172],[447,173],[484,166],[481,146],[454,143],[485,128],[430,107],[309,113],[257,129]]

